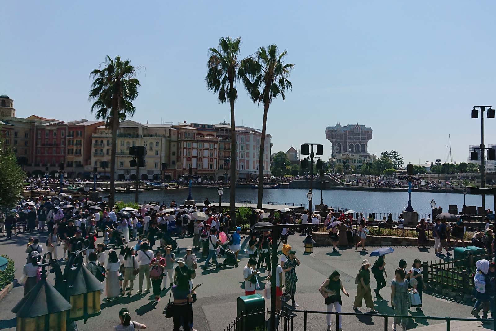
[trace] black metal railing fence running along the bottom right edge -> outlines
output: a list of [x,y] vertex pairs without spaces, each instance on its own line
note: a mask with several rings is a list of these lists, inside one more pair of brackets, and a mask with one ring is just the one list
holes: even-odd
[[[323,315],[321,319],[318,320],[318,326],[310,325],[310,315]],[[224,331],[310,331],[310,330],[320,330],[325,323],[326,315],[334,315],[332,319],[335,324],[335,330],[339,331],[339,325],[335,323],[340,317],[355,317],[359,319],[360,322],[363,323],[363,319],[367,319],[370,322],[367,322],[368,329],[371,330],[371,326],[374,325],[372,322],[373,319],[379,319],[383,321],[383,325],[380,326],[380,329],[388,331],[391,327],[393,319],[402,318],[409,320],[409,323],[412,323],[413,320],[416,322],[424,321],[424,324],[429,325],[427,321],[443,321],[446,322],[446,331],[451,330],[452,322],[482,322],[485,327],[494,330],[495,328],[495,320],[494,319],[476,319],[476,318],[452,318],[452,317],[432,317],[432,316],[395,316],[395,315],[387,315],[387,314],[364,314],[364,313],[337,313],[337,312],[323,312],[323,311],[310,311],[310,310],[292,310],[287,306],[283,307],[281,313],[276,314],[276,328],[271,330],[269,327],[269,316],[270,311],[266,309],[265,311],[258,313],[250,313],[250,314],[241,314],[236,319],[234,319]],[[303,318],[303,320],[302,320]],[[346,323],[343,318],[343,324]]]

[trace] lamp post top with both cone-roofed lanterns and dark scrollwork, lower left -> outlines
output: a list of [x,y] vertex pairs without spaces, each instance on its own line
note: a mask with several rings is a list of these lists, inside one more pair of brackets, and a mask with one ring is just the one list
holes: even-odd
[[[12,312],[17,317],[18,331],[77,330],[76,321],[100,315],[100,290],[103,285],[83,266],[82,252],[69,253],[62,274],[52,253],[43,256],[41,280],[29,291]],[[47,262],[47,255],[49,257]],[[47,281],[47,267],[55,273],[55,287]]]

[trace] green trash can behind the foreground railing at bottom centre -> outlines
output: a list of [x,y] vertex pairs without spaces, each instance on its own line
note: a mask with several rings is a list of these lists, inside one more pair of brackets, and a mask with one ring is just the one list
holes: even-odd
[[244,318],[237,325],[237,330],[250,331],[265,325],[265,298],[260,294],[238,297],[236,316]]

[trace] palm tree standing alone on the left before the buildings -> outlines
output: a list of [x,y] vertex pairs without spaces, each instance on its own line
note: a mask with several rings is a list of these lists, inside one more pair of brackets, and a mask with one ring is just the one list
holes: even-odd
[[115,203],[115,170],[117,131],[119,122],[124,121],[126,116],[132,116],[136,107],[132,101],[138,96],[138,87],[141,86],[136,79],[136,70],[127,60],[121,60],[117,55],[112,59],[109,55],[105,62],[100,63],[99,69],[91,71],[93,78],[89,100],[94,100],[91,112],[96,111],[96,118],[105,120],[107,127],[112,127],[112,149],[110,154],[110,196],[109,207]]

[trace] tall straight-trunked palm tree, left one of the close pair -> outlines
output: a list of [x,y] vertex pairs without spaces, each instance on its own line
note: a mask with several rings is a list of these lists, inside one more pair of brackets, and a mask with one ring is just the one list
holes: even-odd
[[[234,118],[234,103],[238,99],[236,82],[242,80],[249,83],[245,75],[239,72],[242,60],[240,55],[241,38],[232,39],[222,37],[219,40],[218,49],[210,48],[207,61],[207,89],[217,94],[219,103],[229,102],[231,110],[231,164],[230,164],[230,190],[229,190],[229,214],[232,220],[236,220],[236,125]],[[238,77],[236,76],[238,71]],[[258,177],[263,177],[260,170]]]

